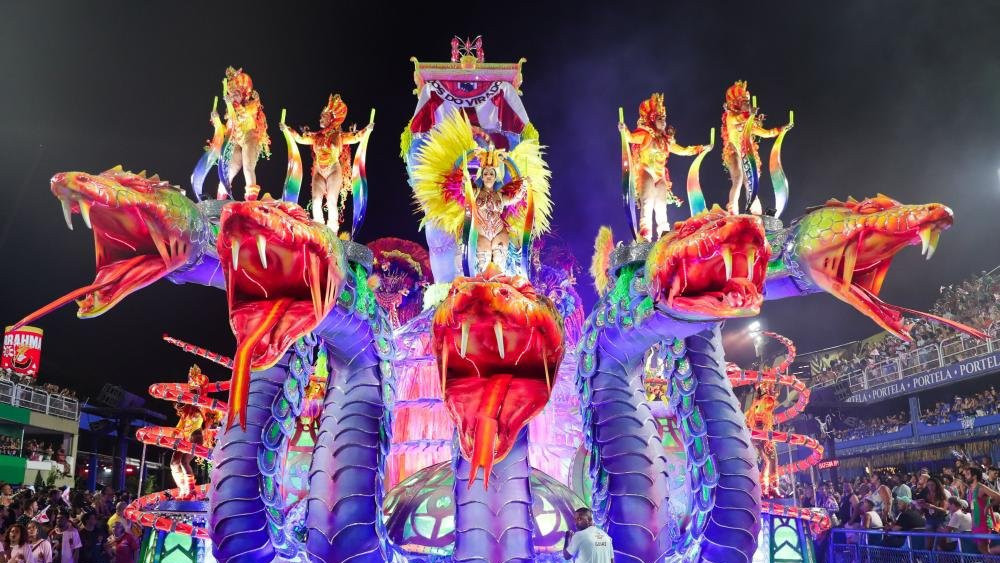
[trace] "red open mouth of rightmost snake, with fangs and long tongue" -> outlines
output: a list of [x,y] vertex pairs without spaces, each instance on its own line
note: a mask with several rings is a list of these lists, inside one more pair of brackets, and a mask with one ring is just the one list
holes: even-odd
[[809,275],[818,286],[903,340],[912,340],[904,313],[985,338],[985,334],[972,327],[891,305],[878,297],[893,257],[907,246],[920,245],[921,254],[930,260],[941,233],[951,227],[953,221],[951,209],[938,203],[887,208],[881,214],[872,212],[854,223],[854,229],[845,233],[844,242],[808,257]]

